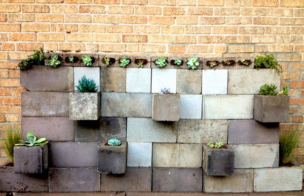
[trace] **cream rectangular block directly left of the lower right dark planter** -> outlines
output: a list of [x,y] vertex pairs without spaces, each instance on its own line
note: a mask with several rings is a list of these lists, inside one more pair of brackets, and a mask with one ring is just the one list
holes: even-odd
[[200,168],[202,167],[202,152],[202,144],[154,143],[152,166],[164,168]]

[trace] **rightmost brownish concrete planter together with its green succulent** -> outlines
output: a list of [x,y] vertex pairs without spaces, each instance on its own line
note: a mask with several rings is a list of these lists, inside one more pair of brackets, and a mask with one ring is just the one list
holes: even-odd
[[[287,87],[276,93],[275,85],[263,85],[260,94],[254,95],[254,119],[262,123],[281,123],[289,120]],[[280,96],[279,96],[280,95]]]

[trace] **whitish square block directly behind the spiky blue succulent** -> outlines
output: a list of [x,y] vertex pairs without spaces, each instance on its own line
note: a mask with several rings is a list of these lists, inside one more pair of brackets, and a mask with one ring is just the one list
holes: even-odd
[[74,67],[74,91],[77,90],[79,80],[83,76],[87,79],[92,79],[96,83],[97,92],[100,91],[100,69],[99,67]]

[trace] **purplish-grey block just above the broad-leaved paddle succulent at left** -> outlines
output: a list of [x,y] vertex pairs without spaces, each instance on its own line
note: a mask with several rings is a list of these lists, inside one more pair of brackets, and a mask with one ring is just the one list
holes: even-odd
[[69,117],[22,117],[22,139],[27,132],[48,141],[74,141],[74,125]]

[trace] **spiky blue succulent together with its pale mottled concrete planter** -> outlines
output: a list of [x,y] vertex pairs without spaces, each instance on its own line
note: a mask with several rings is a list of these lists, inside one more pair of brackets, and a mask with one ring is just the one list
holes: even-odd
[[70,120],[98,120],[100,117],[100,93],[96,83],[84,75],[75,86],[78,92],[69,93]]

